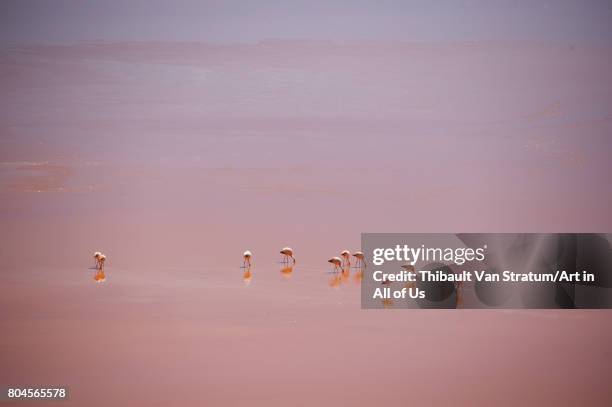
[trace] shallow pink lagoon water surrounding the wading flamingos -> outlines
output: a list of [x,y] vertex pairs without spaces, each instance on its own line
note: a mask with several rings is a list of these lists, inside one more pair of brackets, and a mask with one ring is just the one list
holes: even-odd
[[610,55],[4,50],[0,383],[93,406],[609,405],[610,312],[362,311],[326,259],[361,232],[609,232]]

